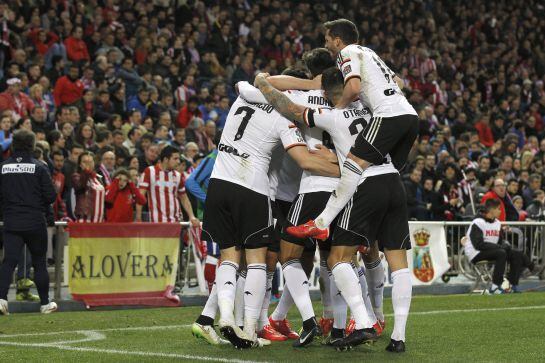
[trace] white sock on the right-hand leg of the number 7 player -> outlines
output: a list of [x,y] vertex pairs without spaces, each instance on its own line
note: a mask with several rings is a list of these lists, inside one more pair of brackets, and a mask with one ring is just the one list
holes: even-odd
[[257,319],[261,314],[266,286],[267,265],[249,264],[244,285],[244,331],[250,337],[255,336],[257,330]]

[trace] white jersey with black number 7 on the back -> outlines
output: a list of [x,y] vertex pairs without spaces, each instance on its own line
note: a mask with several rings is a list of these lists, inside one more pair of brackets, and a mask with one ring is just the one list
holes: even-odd
[[237,98],[227,115],[211,178],[269,196],[269,163],[279,142],[286,150],[306,146],[299,129],[271,105]]

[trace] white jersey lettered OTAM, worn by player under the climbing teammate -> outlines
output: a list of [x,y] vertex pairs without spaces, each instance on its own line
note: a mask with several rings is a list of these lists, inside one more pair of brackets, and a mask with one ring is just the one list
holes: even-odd
[[[305,123],[311,128],[320,128],[327,131],[335,144],[335,151],[339,165],[343,165],[350,148],[354,145],[358,134],[365,129],[371,119],[369,109],[362,108],[307,108],[303,114]],[[354,105],[354,104],[352,104]],[[360,184],[365,178],[398,173],[391,162],[390,155],[386,155],[387,162],[381,165],[371,165],[363,171]]]

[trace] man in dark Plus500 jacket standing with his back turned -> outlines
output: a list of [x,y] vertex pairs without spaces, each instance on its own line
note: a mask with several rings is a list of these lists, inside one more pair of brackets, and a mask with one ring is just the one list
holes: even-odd
[[40,312],[57,310],[49,302],[47,227],[45,214],[56,192],[47,166],[32,157],[36,137],[19,130],[13,135],[13,155],[2,163],[0,198],[4,213],[4,261],[0,268],[0,314],[8,314],[8,290],[15,266],[26,244],[32,255]]

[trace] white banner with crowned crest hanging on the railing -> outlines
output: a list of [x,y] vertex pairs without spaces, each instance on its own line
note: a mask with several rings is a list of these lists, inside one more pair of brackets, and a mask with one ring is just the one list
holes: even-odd
[[413,285],[436,282],[450,268],[445,229],[439,224],[411,222],[412,249],[407,251]]

